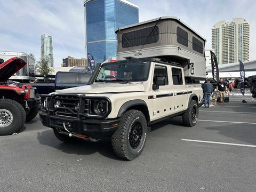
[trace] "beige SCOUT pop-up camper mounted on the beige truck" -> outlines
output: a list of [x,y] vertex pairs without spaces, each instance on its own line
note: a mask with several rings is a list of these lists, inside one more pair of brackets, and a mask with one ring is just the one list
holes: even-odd
[[116,30],[117,60],[162,58],[184,68],[185,76],[205,79],[205,38],[180,19],[162,17]]

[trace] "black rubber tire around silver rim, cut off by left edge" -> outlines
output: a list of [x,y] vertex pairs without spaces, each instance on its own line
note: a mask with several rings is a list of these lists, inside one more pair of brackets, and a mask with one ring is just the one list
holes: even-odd
[[5,109],[12,115],[12,122],[7,126],[0,126],[0,135],[10,135],[17,132],[26,121],[26,112],[17,101],[0,99],[0,110]]

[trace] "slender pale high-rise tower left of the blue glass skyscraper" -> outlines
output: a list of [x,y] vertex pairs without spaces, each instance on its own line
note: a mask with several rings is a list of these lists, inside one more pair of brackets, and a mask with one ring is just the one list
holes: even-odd
[[47,61],[49,67],[53,66],[53,42],[49,34],[41,35],[41,60]]

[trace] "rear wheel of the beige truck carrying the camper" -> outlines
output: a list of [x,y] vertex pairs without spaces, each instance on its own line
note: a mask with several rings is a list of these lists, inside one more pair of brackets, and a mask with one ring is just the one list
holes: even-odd
[[[194,112],[196,113],[195,116],[193,114]],[[185,124],[186,126],[195,126],[197,122],[197,117],[198,117],[198,104],[195,100],[191,100],[186,113],[182,115],[183,124]]]

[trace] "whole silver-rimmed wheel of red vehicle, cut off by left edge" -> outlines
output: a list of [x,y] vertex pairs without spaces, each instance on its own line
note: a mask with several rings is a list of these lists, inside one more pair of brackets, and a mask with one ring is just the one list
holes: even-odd
[[0,135],[17,132],[25,123],[26,112],[17,101],[0,99]]

